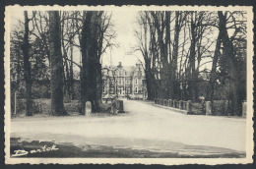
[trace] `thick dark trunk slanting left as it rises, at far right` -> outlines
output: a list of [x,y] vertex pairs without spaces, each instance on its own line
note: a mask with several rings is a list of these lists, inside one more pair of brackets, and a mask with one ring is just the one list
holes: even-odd
[[231,100],[231,103],[229,107],[230,108],[229,113],[240,116],[242,114],[242,97],[241,97],[239,76],[237,72],[237,61],[234,56],[232,41],[228,37],[228,33],[226,29],[226,17],[221,11],[218,12],[218,16],[220,20],[219,22],[220,35],[224,45],[224,57],[226,57],[227,72],[228,72],[228,75],[230,76],[229,99]]

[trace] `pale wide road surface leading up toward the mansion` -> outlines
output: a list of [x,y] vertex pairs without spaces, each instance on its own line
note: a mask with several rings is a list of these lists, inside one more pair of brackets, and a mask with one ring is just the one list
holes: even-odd
[[151,153],[172,154],[166,157],[211,157],[236,152],[245,155],[245,119],[184,115],[136,100],[124,100],[124,109],[126,113],[116,116],[15,118],[11,122],[11,138],[27,144],[71,143],[83,147],[82,151],[103,152],[107,149],[104,146],[109,152],[111,147],[112,156],[108,157],[116,157],[115,151],[122,149],[126,149],[126,155],[129,149],[144,152],[144,157],[152,157]]

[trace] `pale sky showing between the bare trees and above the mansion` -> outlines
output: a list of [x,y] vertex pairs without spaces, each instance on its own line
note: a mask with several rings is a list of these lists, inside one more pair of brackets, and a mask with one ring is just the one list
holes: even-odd
[[[29,18],[30,14],[31,13],[29,12]],[[141,57],[140,53],[137,52],[134,53],[134,55],[128,54],[136,44],[136,38],[134,36],[136,16],[136,11],[119,10],[112,12],[113,29],[116,30],[115,41],[119,44],[119,47],[113,47],[111,50],[106,50],[102,55],[102,66],[116,66],[119,62],[122,62],[122,65],[124,66],[134,66],[138,62],[138,57]],[[24,22],[23,11],[12,13],[11,19],[11,26],[17,25],[19,20]],[[74,59],[77,63],[80,62],[80,56],[79,49],[74,49]],[[142,58],[140,59],[142,60]]]

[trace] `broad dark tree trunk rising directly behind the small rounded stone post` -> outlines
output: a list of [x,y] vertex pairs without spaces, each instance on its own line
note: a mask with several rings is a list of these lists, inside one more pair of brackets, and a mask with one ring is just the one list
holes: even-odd
[[[81,31],[81,51],[82,51],[82,70],[81,70],[81,96],[82,114],[85,112],[85,102],[91,101],[93,111],[99,108],[101,100],[101,63],[100,57],[109,46],[114,32],[105,33],[110,26],[111,17],[106,18],[102,11],[84,11],[83,28]],[[104,45],[105,39],[105,46]]]

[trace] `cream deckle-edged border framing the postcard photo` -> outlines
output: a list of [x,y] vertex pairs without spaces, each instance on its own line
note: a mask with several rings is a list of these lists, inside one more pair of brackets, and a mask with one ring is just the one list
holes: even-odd
[[[246,11],[247,12],[247,118],[246,118],[246,158],[10,158],[11,98],[10,98],[10,17],[17,10],[118,10],[131,11]],[[5,12],[5,163],[6,164],[246,164],[252,163],[253,155],[253,11],[251,6],[7,6]]]

